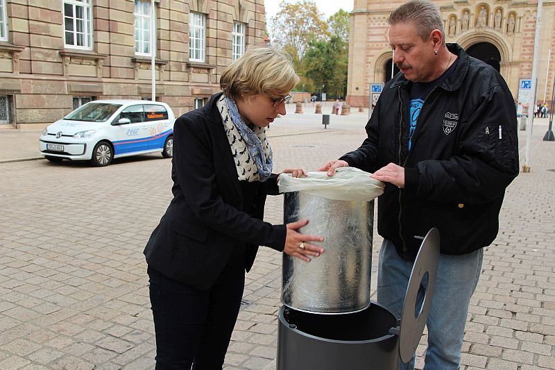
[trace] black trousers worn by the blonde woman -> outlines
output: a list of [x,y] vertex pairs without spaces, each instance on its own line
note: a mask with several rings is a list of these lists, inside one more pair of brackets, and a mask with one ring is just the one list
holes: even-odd
[[245,256],[234,255],[216,283],[198,290],[148,267],[156,370],[221,370],[245,285]]

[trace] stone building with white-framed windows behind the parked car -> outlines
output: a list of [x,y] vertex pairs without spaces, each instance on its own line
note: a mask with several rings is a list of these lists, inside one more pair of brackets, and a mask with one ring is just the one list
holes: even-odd
[[[263,0],[155,0],[156,99],[181,115],[262,44]],[[0,127],[40,129],[92,99],[151,99],[151,0],[0,0]]]

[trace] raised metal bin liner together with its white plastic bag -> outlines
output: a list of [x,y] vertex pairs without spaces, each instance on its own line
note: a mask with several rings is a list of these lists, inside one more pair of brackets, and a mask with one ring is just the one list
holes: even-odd
[[384,184],[343,167],[280,180],[284,221],[309,219],[302,233],[322,235],[325,253],[311,262],[283,256],[282,303],[302,312],[340,314],[370,305],[373,199]]

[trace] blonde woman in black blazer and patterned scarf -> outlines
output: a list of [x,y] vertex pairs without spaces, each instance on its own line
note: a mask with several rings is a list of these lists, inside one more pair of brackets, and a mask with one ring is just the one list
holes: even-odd
[[[223,72],[223,93],[174,126],[173,199],[146,244],[156,369],[221,369],[259,245],[309,262],[322,242],[307,220],[262,221],[278,194],[265,128],[298,83],[287,54],[250,49]],[[302,169],[287,169],[306,176]]]

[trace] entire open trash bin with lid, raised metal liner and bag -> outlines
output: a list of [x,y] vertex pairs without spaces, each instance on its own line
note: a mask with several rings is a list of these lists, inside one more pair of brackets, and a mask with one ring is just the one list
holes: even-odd
[[[383,183],[343,167],[332,178],[282,176],[285,222],[325,237],[311,262],[284,255],[278,311],[278,370],[397,370],[411,360],[425,327],[439,260],[436,228],[422,238],[402,317],[370,301],[373,201]],[[423,279],[427,289],[420,290]]]

